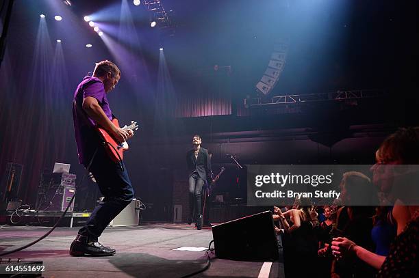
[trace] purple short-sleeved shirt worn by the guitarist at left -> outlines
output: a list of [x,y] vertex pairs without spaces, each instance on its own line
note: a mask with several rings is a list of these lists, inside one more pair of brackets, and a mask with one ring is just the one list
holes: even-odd
[[99,135],[94,127],[97,125],[86,111],[81,107],[84,98],[91,96],[97,99],[105,115],[112,120],[112,111],[107,102],[105,85],[97,77],[84,77],[83,81],[77,86],[73,101],[73,122],[74,133],[77,143],[79,161],[85,166],[88,165],[92,154],[99,146]]

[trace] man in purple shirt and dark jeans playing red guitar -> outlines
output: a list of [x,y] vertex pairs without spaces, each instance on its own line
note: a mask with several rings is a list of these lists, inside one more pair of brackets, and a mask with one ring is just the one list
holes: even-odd
[[[98,242],[105,227],[130,204],[134,190],[123,163],[114,163],[105,152],[96,127],[101,126],[115,141],[122,143],[134,135],[112,123],[114,115],[107,94],[120,79],[119,68],[111,61],[100,61],[92,77],[84,77],[73,100],[73,122],[79,161],[90,171],[104,196],[71,244],[71,255],[114,255],[115,250]],[[90,167],[89,167],[90,165]]]

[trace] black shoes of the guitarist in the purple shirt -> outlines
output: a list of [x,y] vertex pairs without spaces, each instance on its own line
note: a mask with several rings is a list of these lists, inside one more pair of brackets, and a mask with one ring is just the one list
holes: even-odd
[[88,240],[87,236],[77,235],[71,243],[70,255],[107,256],[114,255],[115,249],[101,245],[97,240]]

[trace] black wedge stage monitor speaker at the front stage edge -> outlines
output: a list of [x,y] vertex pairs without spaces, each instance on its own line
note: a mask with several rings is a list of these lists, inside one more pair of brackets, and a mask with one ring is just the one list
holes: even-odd
[[279,258],[272,212],[260,212],[212,227],[216,258],[273,261]]

